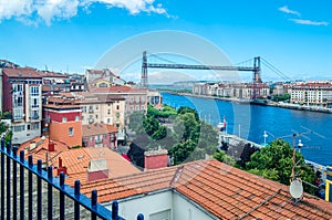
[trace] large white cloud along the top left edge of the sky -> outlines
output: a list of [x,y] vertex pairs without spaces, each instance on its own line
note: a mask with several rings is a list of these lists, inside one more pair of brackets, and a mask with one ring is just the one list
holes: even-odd
[[25,23],[43,20],[50,25],[53,20],[76,15],[79,8],[89,11],[93,3],[123,8],[131,14],[147,12],[169,17],[162,4],[155,4],[155,0],[0,0],[0,22],[14,18]]

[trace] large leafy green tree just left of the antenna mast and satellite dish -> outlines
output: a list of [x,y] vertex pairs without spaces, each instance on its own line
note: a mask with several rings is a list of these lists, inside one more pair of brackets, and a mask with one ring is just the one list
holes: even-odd
[[[293,166],[292,156],[293,150],[289,143],[277,139],[270,146],[256,151],[246,164],[246,168],[250,172],[289,185]],[[298,151],[295,151],[295,163],[298,165],[294,169],[295,175],[300,176],[304,182],[312,184],[315,174],[305,165],[303,156]],[[304,185],[304,190],[311,193],[314,191],[309,185]]]

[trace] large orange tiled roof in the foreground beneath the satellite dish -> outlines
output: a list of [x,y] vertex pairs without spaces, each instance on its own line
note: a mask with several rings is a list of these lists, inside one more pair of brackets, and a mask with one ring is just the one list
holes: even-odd
[[98,190],[98,202],[173,189],[220,219],[332,219],[332,203],[304,195],[293,201],[288,187],[230,167],[200,160],[82,186]]

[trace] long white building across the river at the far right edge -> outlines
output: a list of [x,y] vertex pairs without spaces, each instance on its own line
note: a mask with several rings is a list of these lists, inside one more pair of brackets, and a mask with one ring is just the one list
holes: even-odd
[[303,105],[329,106],[332,104],[332,84],[303,83],[290,87],[290,102]]

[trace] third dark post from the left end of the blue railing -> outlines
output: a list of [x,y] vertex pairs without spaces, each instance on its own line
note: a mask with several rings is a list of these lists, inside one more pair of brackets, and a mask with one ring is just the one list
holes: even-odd
[[18,147],[13,147],[12,149],[12,154],[13,154],[13,160],[12,160],[12,219],[17,220],[18,219],[18,214],[17,211],[18,210]]

